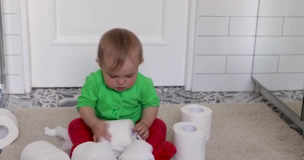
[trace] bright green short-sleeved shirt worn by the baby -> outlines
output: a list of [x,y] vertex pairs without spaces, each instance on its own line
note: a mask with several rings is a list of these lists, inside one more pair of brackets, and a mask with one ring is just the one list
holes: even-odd
[[106,86],[101,70],[88,75],[77,99],[77,110],[82,106],[95,109],[96,116],[104,120],[141,118],[142,109],[159,106],[153,81],[138,72],[131,88],[121,92]]

